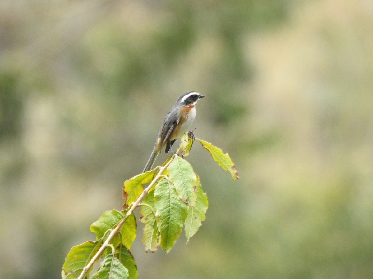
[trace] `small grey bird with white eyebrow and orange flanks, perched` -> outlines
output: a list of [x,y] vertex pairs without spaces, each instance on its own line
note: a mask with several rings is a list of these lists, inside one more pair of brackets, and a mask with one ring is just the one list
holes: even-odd
[[170,109],[164,118],[163,125],[158,132],[156,144],[154,145],[153,151],[144,167],[143,173],[149,171],[160,153],[162,148],[166,146],[165,153],[167,154],[169,150],[172,152],[171,146],[174,142],[186,133],[192,125],[195,118],[195,105],[198,100],[204,96],[195,92],[188,91],[176,100],[175,105]]

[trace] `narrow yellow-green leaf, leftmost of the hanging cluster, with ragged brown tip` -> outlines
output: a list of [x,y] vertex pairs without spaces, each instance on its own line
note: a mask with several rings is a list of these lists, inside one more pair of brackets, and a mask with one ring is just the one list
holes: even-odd
[[140,221],[144,223],[142,243],[145,246],[145,251],[150,251],[154,253],[157,251],[159,246],[158,236],[159,232],[157,230],[156,216],[154,215],[154,191],[148,193],[142,201],[143,204],[140,209]]

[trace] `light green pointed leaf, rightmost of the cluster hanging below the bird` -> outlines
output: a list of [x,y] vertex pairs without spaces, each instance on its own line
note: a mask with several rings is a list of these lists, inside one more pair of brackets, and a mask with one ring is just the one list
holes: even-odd
[[187,242],[202,225],[202,221],[206,219],[206,211],[209,207],[209,202],[207,201],[207,195],[203,192],[200,179],[197,176],[197,182],[195,184],[195,193],[197,194],[197,200],[195,206],[189,206],[188,215],[184,223],[184,231]]

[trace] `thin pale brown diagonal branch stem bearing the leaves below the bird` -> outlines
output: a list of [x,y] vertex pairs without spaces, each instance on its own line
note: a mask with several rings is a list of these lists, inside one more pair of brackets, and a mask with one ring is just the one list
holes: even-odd
[[[178,149],[178,151],[176,151],[176,153],[178,153],[179,150],[180,149]],[[157,173],[156,177],[154,177],[153,181],[149,184],[148,187],[146,187],[144,190],[142,190],[142,193],[138,197],[138,199],[134,203],[132,203],[132,206],[128,210],[128,212],[125,215],[125,217],[118,222],[118,224],[116,225],[116,227],[114,229],[110,230],[110,234],[106,238],[106,241],[102,244],[102,246],[100,247],[100,249],[97,251],[97,253],[90,260],[90,262],[83,268],[82,273],[79,275],[78,279],[83,279],[84,276],[87,275],[88,270],[90,270],[90,268],[93,266],[93,264],[100,258],[100,256],[104,252],[104,250],[110,245],[109,244],[110,241],[112,241],[112,239],[114,238],[114,236],[119,232],[120,228],[122,228],[122,226],[123,226],[124,222],[126,221],[126,219],[128,218],[128,216],[131,215],[132,212],[135,210],[135,208],[137,208],[137,206],[140,205],[140,202],[142,201],[142,199],[149,192],[149,190],[151,189],[151,187],[153,187],[153,185],[157,182],[157,180],[160,179],[160,177],[163,175],[162,174],[163,171],[167,169],[167,167],[169,166],[169,164],[172,162],[173,158],[175,158],[176,155],[177,154],[172,155],[171,159],[163,167],[160,168],[159,172]]]

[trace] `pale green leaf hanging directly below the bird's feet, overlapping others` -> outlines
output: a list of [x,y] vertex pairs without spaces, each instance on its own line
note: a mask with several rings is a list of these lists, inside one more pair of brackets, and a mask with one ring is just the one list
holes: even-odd
[[193,187],[196,178],[192,166],[183,158],[175,156],[167,170],[178,197],[188,205],[194,206],[196,195]]

